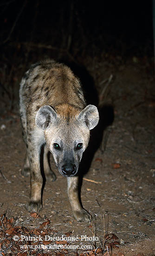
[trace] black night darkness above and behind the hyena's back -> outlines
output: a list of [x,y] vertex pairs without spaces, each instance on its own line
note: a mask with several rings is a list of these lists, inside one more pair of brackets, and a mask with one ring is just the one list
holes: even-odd
[[0,92],[9,108],[24,72],[47,57],[84,67],[106,62],[109,70],[134,57],[153,73],[152,9],[152,0],[2,0]]

